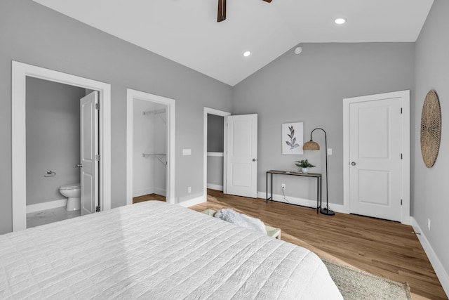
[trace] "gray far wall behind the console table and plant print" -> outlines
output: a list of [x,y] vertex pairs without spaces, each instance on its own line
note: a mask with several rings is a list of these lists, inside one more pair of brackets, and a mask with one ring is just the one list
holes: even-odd
[[[414,43],[302,44],[302,53],[293,49],[269,63],[234,87],[232,112],[257,113],[258,183],[265,191],[265,171],[294,171],[294,161],[309,159],[316,164],[311,172],[323,172],[324,151],[304,155],[281,154],[281,124],[304,122],[304,141],[322,127],[328,133],[329,202],[343,204],[343,98],[389,91],[413,90]],[[314,141],[324,147],[321,131]],[[316,199],[314,181],[283,176],[274,182],[274,193]],[[303,178],[304,179],[304,178]],[[324,182],[324,181],[323,181]],[[324,186],[323,186],[324,188]],[[323,195],[326,190],[323,189]],[[332,208],[332,206],[330,206]]]

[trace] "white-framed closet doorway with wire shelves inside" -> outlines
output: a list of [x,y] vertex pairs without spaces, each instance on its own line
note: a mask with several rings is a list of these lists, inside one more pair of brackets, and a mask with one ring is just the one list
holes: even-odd
[[126,203],[174,203],[175,100],[127,90]]

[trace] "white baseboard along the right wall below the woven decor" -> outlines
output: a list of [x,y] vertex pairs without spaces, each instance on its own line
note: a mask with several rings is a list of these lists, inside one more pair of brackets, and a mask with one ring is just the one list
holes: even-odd
[[415,230],[415,233],[421,233],[420,235],[416,235],[418,240],[420,240],[420,243],[422,245],[422,248],[424,249],[424,252],[426,252],[427,257],[429,257],[429,261],[434,268],[434,271],[436,273],[436,277],[438,277],[438,280],[440,280],[441,286],[444,289],[444,292],[447,296],[449,296],[449,273],[447,270],[444,269],[443,263],[441,263],[440,259],[438,259],[438,256],[436,256],[436,253],[434,252],[434,249],[431,247],[431,244],[427,240],[426,235],[424,235],[424,231],[420,228],[420,225],[418,225],[417,221],[413,216],[410,218],[411,223],[413,226],[413,230]]

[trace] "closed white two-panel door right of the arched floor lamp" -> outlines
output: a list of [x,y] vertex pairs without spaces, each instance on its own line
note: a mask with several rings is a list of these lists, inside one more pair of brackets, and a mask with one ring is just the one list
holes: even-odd
[[401,221],[401,98],[349,104],[349,211]]

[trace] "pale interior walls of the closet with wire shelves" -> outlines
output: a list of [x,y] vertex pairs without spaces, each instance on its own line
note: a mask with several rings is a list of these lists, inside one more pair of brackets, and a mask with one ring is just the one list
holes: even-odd
[[[156,193],[166,195],[166,157],[143,157],[143,153],[166,154],[166,112],[143,115],[161,110],[166,105],[147,100],[133,101],[133,197]],[[164,122],[165,121],[165,122]]]

